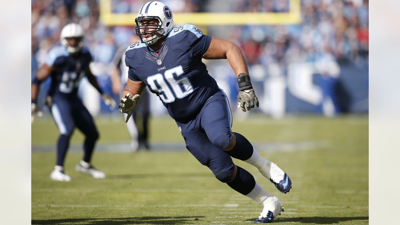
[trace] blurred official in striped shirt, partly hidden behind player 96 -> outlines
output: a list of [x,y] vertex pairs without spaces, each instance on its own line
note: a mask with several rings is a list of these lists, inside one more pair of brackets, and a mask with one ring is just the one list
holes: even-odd
[[[138,36],[132,37],[132,42],[139,40]],[[128,46],[118,48],[112,59],[111,66],[111,83],[112,92],[114,94],[122,94],[128,80],[128,67],[125,66],[125,50]],[[150,99],[148,93],[145,91],[141,95],[142,104],[134,112],[132,112],[133,119],[126,123],[129,135],[131,137],[131,149],[137,151],[140,146],[146,149],[148,146],[148,119],[150,116]],[[124,120],[126,120],[124,114]]]

